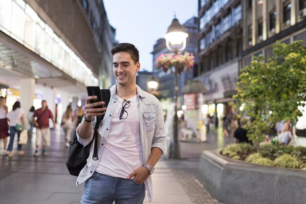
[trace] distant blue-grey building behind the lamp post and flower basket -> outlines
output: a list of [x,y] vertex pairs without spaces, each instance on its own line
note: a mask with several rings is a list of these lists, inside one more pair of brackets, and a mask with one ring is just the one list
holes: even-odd
[[[184,71],[178,75],[178,103],[183,105],[183,97],[181,90],[188,80],[197,75],[197,17],[193,17],[186,21],[183,26],[188,33],[186,40],[186,48],[183,52],[190,52],[195,55],[195,65],[192,71]],[[156,44],[153,46],[153,75],[158,79],[158,89],[161,98],[172,100],[175,94],[174,87],[174,70],[168,70],[164,72],[160,69],[155,69],[155,60],[160,54],[172,53],[166,46],[166,40],[164,38],[158,39]],[[179,106],[179,107],[180,107]]]

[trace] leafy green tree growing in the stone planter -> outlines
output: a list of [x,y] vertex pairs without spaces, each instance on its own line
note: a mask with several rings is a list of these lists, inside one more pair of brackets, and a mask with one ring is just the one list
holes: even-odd
[[249,118],[247,136],[255,147],[271,127],[281,120],[294,121],[303,113],[306,101],[306,48],[301,41],[276,42],[274,56],[264,62],[262,55],[241,69],[237,94],[240,117]]

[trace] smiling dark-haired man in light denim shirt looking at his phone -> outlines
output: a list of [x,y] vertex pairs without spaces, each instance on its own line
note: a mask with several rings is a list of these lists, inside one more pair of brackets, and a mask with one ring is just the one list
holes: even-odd
[[85,181],[81,204],[142,204],[145,190],[152,201],[150,175],[165,148],[163,111],[157,98],[136,85],[137,48],[121,43],[110,52],[117,84],[110,88],[109,105],[94,108],[104,102],[90,104],[96,96],[87,97],[77,128],[78,141],[86,146],[93,138],[95,116],[106,114],[98,129],[99,159],[90,152],[76,184]]

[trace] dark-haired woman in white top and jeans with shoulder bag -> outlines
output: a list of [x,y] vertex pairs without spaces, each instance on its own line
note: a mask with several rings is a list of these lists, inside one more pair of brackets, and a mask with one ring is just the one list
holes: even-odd
[[[7,147],[7,151],[8,151],[8,156],[9,157],[13,157],[13,143],[14,143],[14,137],[15,134],[17,133],[18,136],[18,141],[19,141],[19,137],[20,137],[20,133],[22,131],[16,130],[15,127],[17,124],[19,125],[23,125],[24,127],[24,118],[23,118],[23,110],[21,109],[20,106],[20,102],[16,101],[13,105],[13,109],[10,113],[7,113],[7,119],[10,122],[10,142],[8,144]],[[22,151],[22,145],[18,143],[18,155],[23,155],[24,152]]]

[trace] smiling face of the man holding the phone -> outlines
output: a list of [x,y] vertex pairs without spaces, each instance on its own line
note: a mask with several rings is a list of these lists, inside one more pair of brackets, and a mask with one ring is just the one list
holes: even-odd
[[136,83],[136,73],[140,69],[140,63],[134,64],[129,53],[118,52],[113,56],[112,69],[117,83],[124,87]]

